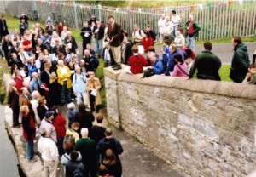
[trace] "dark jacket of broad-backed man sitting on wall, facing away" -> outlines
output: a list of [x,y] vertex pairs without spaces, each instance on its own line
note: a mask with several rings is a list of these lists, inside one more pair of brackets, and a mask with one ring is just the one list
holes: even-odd
[[189,78],[193,77],[197,69],[197,78],[220,81],[218,70],[221,67],[221,61],[218,56],[212,54],[210,50],[205,50],[195,57],[195,62],[189,71]]

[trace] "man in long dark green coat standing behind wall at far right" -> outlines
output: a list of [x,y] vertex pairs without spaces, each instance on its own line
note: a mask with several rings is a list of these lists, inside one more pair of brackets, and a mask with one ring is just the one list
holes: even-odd
[[241,43],[241,37],[232,37],[232,44],[234,55],[230,68],[230,78],[235,83],[241,83],[246,77],[250,65],[247,46]]

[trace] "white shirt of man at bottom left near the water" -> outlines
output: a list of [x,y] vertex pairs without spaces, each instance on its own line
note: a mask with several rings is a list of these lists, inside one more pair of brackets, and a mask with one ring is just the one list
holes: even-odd
[[53,140],[41,137],[38,140],[38,151],[45,162],[58,162],[59,152]]

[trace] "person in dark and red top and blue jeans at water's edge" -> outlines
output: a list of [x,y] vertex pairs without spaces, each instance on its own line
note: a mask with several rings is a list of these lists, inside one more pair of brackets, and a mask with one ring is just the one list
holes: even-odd
[[26,159],[28,162],[35,162],[34,155],[34,139],[36,137],[36,124],[34,119],[29,116],[28,106],[21,106],[20,113],[22,115],[23,136],[26,140]]

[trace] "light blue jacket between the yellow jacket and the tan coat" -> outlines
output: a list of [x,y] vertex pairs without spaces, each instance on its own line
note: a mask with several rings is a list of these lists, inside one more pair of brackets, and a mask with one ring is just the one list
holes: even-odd
[[[82,77],[83,78],[82,78]],[[74,93],[84,93],[85,89],[86,76],[83,72],[81,74],[75,73],[73,75],[73,92]]]

